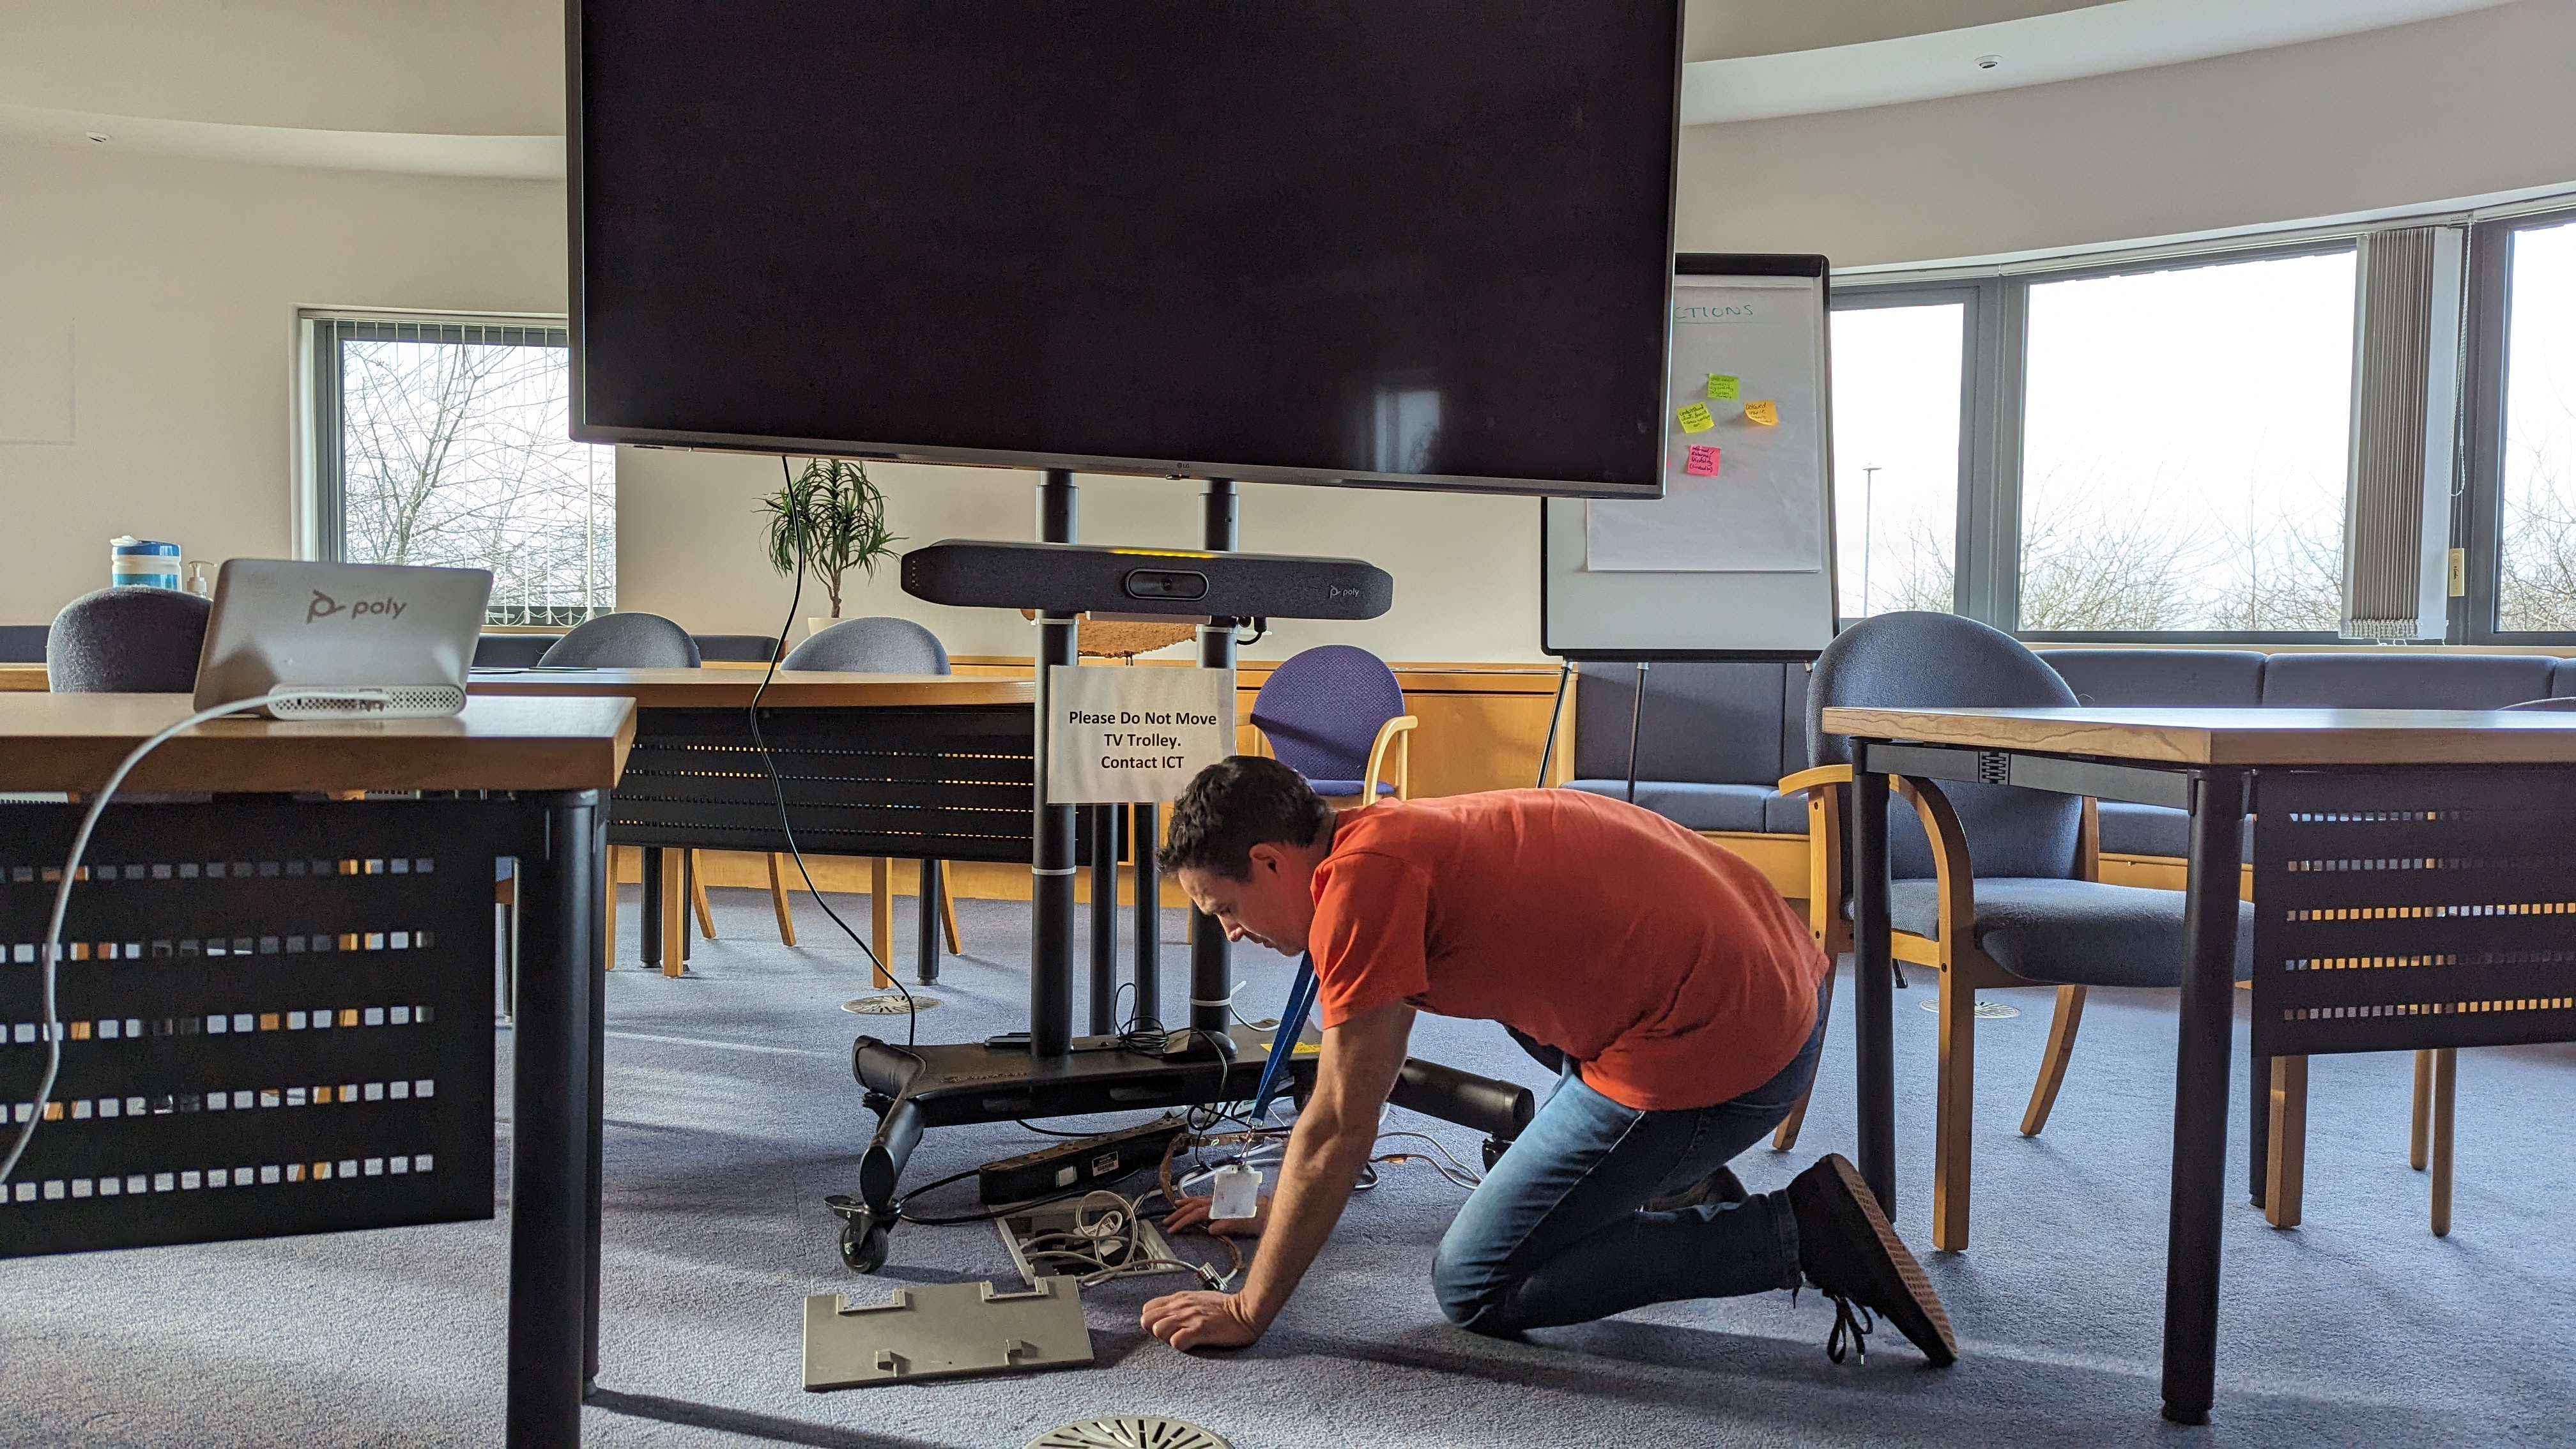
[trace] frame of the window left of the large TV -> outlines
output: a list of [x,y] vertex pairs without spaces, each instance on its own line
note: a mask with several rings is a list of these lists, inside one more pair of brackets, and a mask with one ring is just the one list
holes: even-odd
[[[343,327],[389,327],[392,340],[435,343],[500,343],[572,348],[572,320],[562,312],[430,312],[430,309],[374,309],[374,307],[301,307],[296,309],[296,351],[301,387],[299,467],[296,467],[296,557],[309,562],[348,559],[348,456],[343,451]],[[425,335],[435,333],[435,335]],[[482,333],[497,333],[484,338]],[[528,338],[533,333],[536,338]],[[616,498],[616,474],[608,482]],[[595,614],[608,614],[616,606]],[[592,614],[592,616],[595,616]],[[541,627],[562,629],[567,621],[500,624],[487,619],[487,629]]]

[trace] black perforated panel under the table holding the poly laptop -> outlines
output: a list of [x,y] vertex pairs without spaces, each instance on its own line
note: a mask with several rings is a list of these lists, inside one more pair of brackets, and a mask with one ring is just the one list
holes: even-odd
[[77,810],[0,804],[0,1101],[44,1111],[0,1253],[492,1217],[482,802],[116,804],[44,1073],[39,941]]

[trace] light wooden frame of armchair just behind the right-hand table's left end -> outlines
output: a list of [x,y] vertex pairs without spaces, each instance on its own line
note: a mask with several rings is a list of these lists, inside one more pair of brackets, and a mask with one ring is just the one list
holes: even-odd
[[[1826,962],[1852,949],[1852,923],[1842,918],[1847,884],[1842,871],[1842,792],[1847,784],[1852,784],[1852,766],[1816,766],[1780,781],[1780,794],[1806,792],[1808,933],[1826,954]],[[1924,833],[1932,838],[1940,936],[1891,931],[1888,946],[1899,962],[1940,972],[1932,1245],[1960,1253],[1968,1248],[1968,1178],[1976,1124],[1976,993],[2050,982],[2017,977],[1976,946],[1976,869],[1968,859],[1968,835],[1960,830],[1950,797],[1929,779],[1891,776],[1891,786],[1914,807],[1914,815],[1924,822]],[[2076,833],[2076,877],[2102,877],[2102,830],[2092,799],[2084,799],[2081,828]],[[2058,985],[2056,1016],[2048,1024],[2048,1049],[2040,1057],[2040,1078],[2032,1083],[2030,1106],[2022,1111],[2022,1137],[2038,1137],[2048,1127],[2058,1088],[2066,1083],[2066,1062],[2074,1060],[2081,1021],[2084,987]],[[1785,1152],[1795,1147],[1803,1122],[1806,1093],[1798,1096],[1788,1119],[1772,1132],[1772,1150]]]

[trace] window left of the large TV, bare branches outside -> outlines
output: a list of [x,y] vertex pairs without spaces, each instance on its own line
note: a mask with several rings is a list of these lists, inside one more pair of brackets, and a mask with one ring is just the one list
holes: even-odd
[[312,554],[492,570],[492,624],[616,608],[616,449],[567,438],[567,333],[307,320]]

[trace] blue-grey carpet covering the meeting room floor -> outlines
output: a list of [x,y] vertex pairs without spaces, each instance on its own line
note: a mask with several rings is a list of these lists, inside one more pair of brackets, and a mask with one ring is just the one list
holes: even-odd
[[[2172,993],[2154,990],[2094,993],[2040,1140],[2014,1124],[2048,995],[2002,993],[2025,1013],[1981,1029],[1976,1245],[1927,1256],[1963,1336],[1950,1372],[1924,1369],[1893,1333],[1868,1366],[1829,1364],[1832,1312],[1814,1294],[1664,1305],[1528,1343],[1471,1338],[1440,1323],[1425,1281],[1461,1194],[1427,1168],[1388,1168],[1252,1351],[1193,1359],[1146,1338],[1136,1307],[1177,1281],[1149,1279],[1084,1297],[1092,1369],[804,1395],[801,1294],[1010,1269],[989,1227],[904,1227],[876,1284],[840,1269],[819,1201],[850,1189],[871,1129],[848,1073],[863,1018],[837,1011],[866,975],[811,902],[799,902],[799,951],[775,944],[760,895],[719,890],[716,902],[724,938],[698,946],[698,980],[611,977],[603,1392],[585,1415],[598,1444],[1018,1446],[1103,1413],[1177,1413],[1244,1449],[2571,1436],[2576,1256],[2543,1207],[2568,1186],[2568,1049],[2463,1055],[2447,1240],[2427,1232],[2424,1176],[2406,1168],[2406,1057],[2318,1060],[2308,1225],[2269,1230],[2231,1194],[2218,1418],[2159,1423]],[[1025,908],[963,902],[963,923],[969,959],[935,987],[945,1006],[922,1039],[1023,1021]],[[1177,913],[1164,936],[1180,938]],[[1177,1003],[1185,951],[1164,959]],[[1249,949],[1239,962],[1244,1003],[1273,1011],[1285,962]],[[1899,1227],[1914,1243],[1929,1235],[1924,998],[1917,985],[1896,1011]],[[1852,1150],[1847,1008],[1844,993],[1806,1142],[1736,1163],[1757,1191]],[[1494,1026],[1425,1018],[1417,1052],[1543,1080]],[[1437,1132],[1461,1155],[1476,1145]],[[933,1132],[909,1181],[1030,1142],[1007,1124]],[[2239,1142],[2236,1183],[2241,1158]],[[971,1183],[933,1199],[966,1209]],[[502,1269],[505,1220],[0,1263],[0,1441],[497,1444]]]

